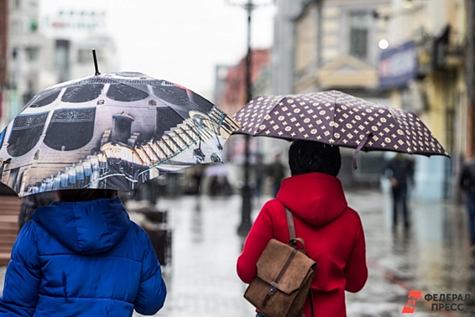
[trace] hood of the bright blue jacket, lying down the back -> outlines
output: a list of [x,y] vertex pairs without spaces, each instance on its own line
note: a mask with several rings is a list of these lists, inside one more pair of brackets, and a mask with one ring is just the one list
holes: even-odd
[[129,228],[129,215],[118,197],[39,207],[33,220],[78,254],[112,249]]

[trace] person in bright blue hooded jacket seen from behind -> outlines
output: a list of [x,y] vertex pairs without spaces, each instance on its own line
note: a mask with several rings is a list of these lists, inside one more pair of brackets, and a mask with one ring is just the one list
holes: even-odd
[[153,315],[167,288],[149,236],[114,190],[59,191],[12,249],[0,316]]

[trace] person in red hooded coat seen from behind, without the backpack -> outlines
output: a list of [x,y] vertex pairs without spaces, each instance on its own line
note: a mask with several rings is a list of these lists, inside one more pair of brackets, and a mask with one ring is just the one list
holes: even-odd
[[[295,232],[305,241],[308,256],[317,262],[312,283],[315,317],[345,317],[345,291],[359,292],[368,279],[363,226],[348,207],[337,174],[339,147],[314,141],[294,141],[288,150],[291,177],[285,178],[275,199],[257,215],[237,258],[237,275],[251,283],[257,259],[268,241],[289,240],[285,207],[292,213]],[[311,316],[310,300],[304,306]],[[263,316],[257,311],[257,316]]]

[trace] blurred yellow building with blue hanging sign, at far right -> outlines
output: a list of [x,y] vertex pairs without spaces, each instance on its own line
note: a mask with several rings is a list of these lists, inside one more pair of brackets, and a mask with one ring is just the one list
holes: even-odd
[[452,198],[468,144],[467,1],[393,0],[389,21],[392,48],[380,57],[380,87],[392,105],[418,114],[451,156],[415,156],[414,195]]

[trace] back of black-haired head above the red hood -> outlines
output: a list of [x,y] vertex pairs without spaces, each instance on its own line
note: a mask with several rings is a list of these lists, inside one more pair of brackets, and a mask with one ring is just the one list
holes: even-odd
[[316,141],[293,141],[288,149],[292,175],[320,172],[337,176],[341,167],[339,147]]

